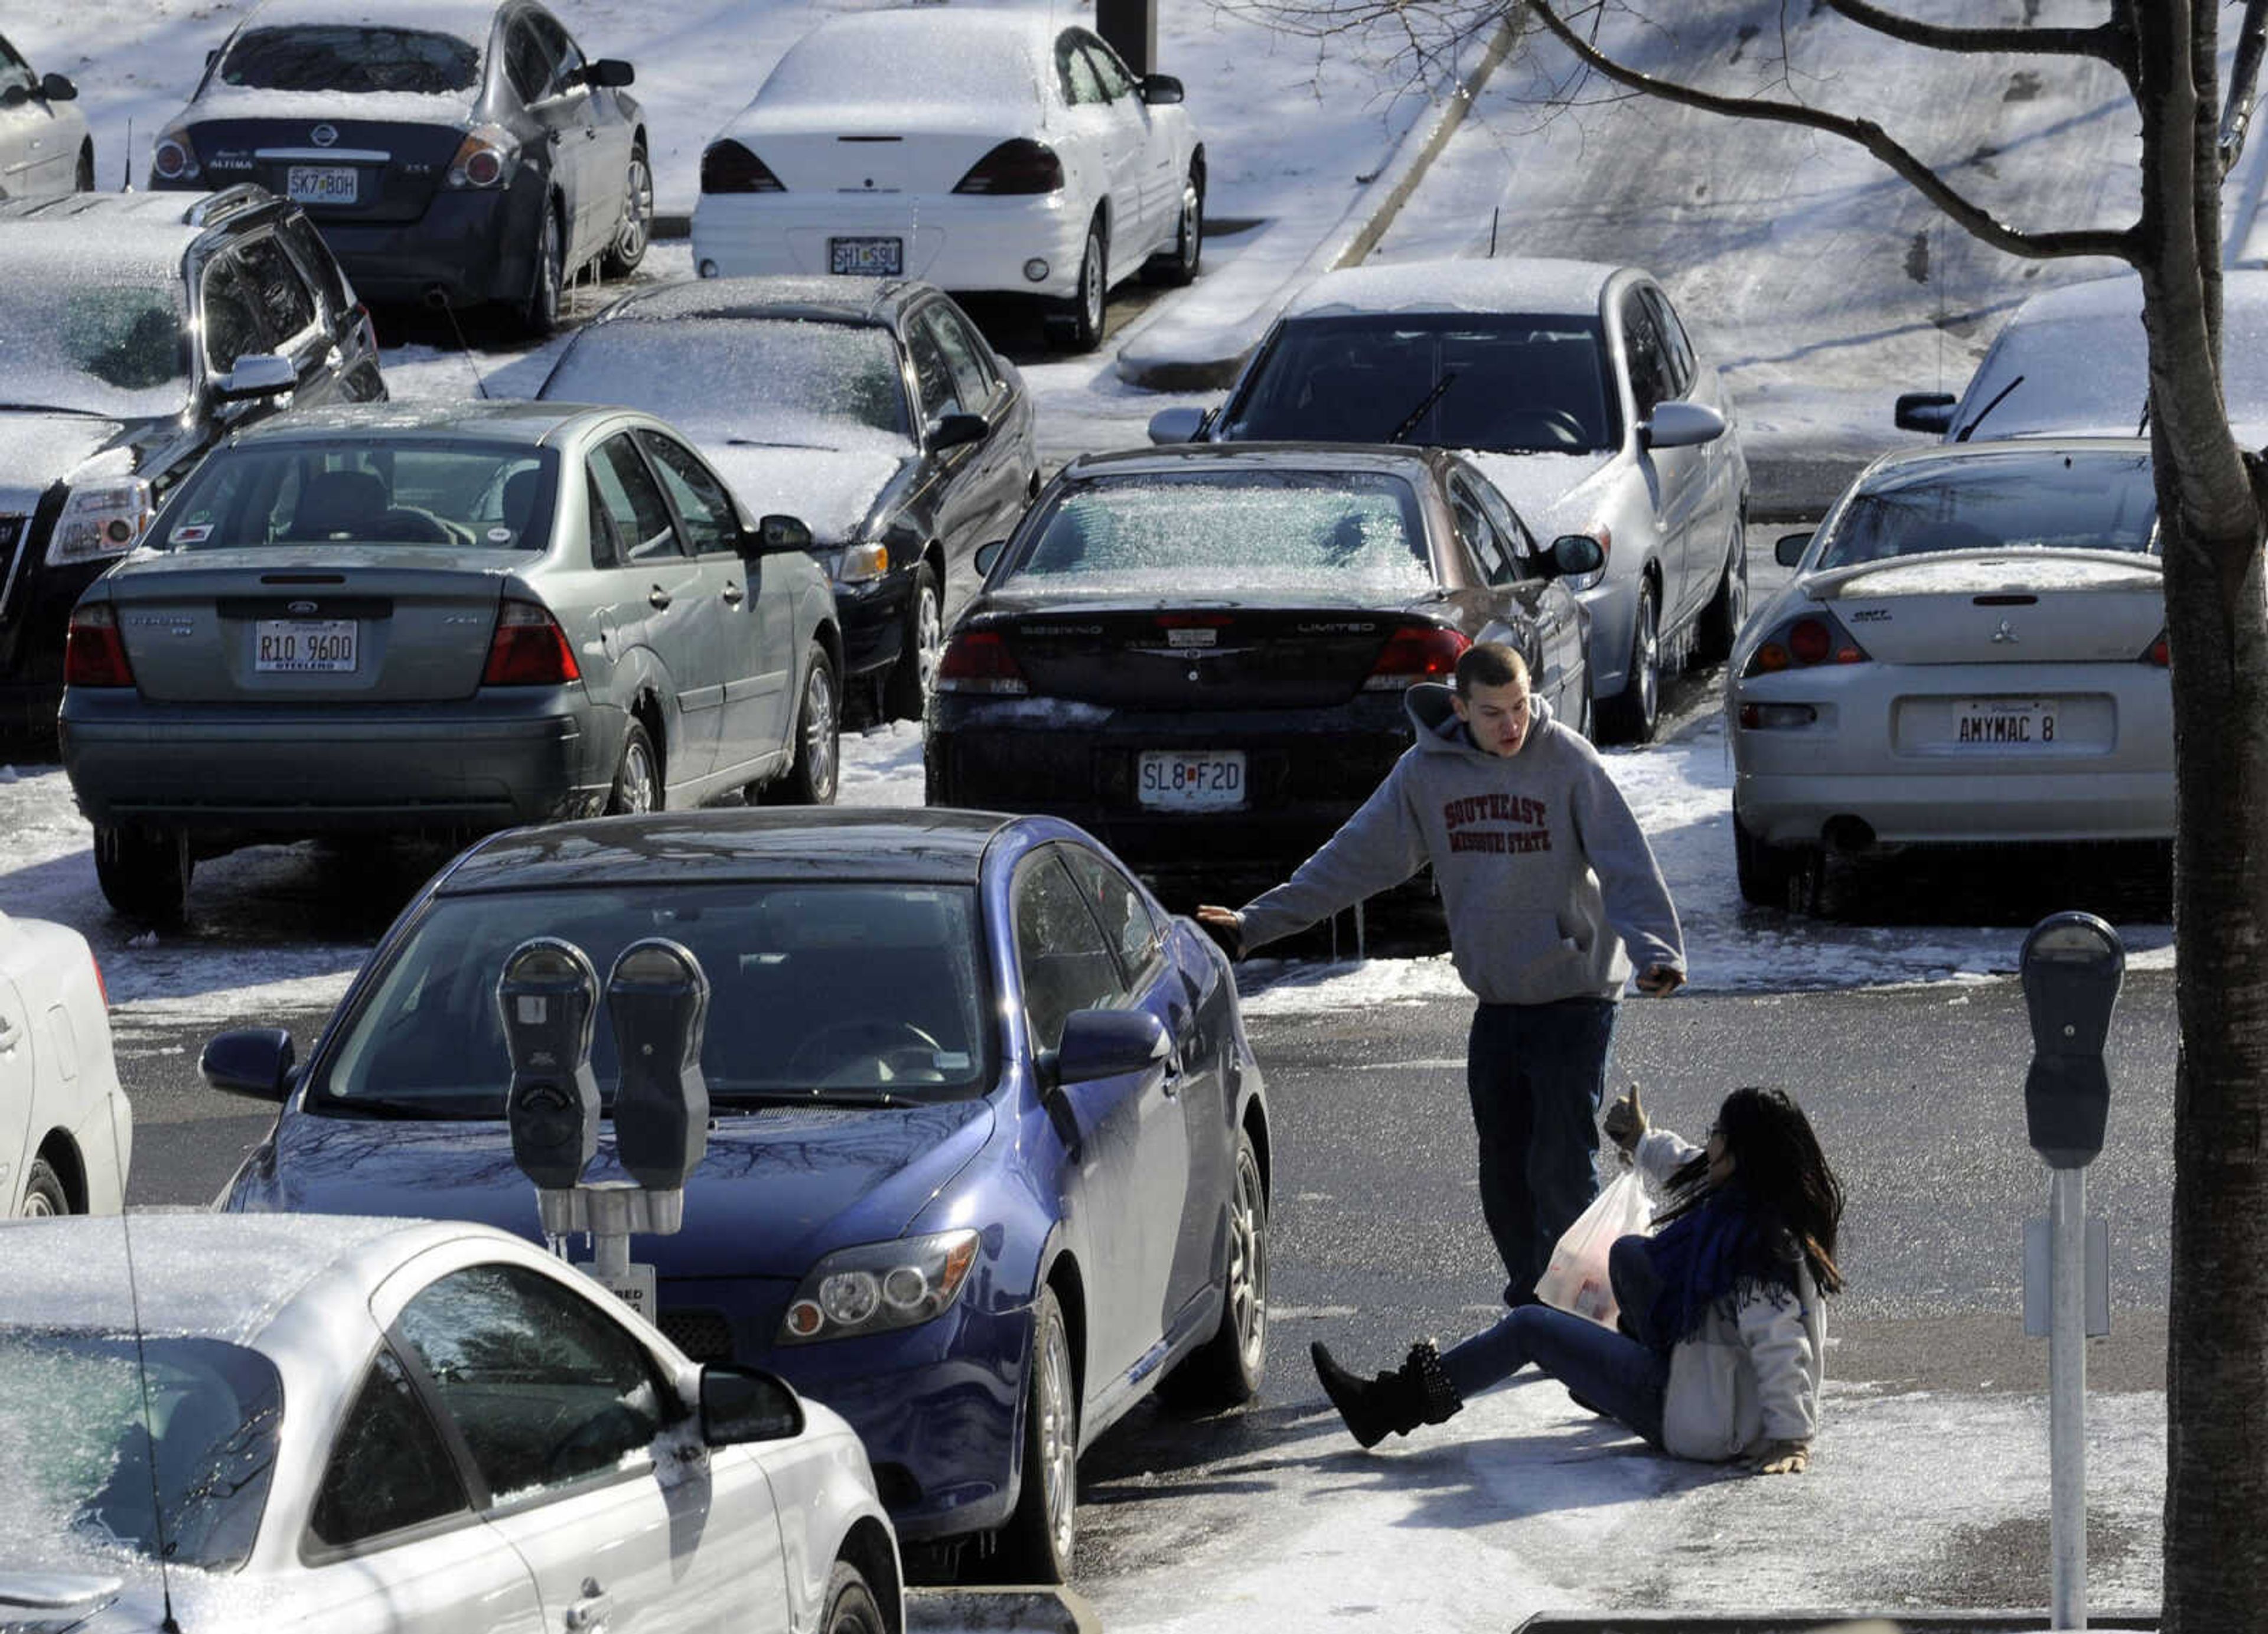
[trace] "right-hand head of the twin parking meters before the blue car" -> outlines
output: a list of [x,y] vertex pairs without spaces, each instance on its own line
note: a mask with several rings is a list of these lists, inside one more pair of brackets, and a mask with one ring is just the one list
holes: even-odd
[[708,1149],[708,975],[667,936],[631,943],[606,977],[615,1022],[615,1154],[649,1192],[678,1192]]

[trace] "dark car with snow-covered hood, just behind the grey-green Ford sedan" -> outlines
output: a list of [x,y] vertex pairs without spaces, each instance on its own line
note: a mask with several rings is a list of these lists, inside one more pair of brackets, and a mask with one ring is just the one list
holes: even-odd
[[975,589],[971,558],[1039,492],[1023,376],[928,283],[637,290],[535,394],[662,415],[746,505],[801,517],[835,587],[844,693],[903,721]]

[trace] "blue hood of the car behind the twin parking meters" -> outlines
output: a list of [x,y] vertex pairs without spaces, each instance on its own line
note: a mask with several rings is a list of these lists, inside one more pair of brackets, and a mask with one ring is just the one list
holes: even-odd
[[[900,1237],[993,1131],[984,1099],[719,1113],[685,1231],[637,1237],[660,1276],[801,1278],[830,1249]],[[612,1129],[590,1181],[626,1181]],[[503,1122],[286,1115],[227,1208],[472,1219],[542,1242]]]

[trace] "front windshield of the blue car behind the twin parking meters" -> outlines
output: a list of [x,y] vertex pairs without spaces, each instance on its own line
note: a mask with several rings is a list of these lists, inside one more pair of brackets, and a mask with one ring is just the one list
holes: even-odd
[[[991,1083],[975,893],[914,884],[590,886],[438,897],[318,1067],[324,1110],[501,1117],[506,956],[562,936],[601,981],[633,941],[667,936],[708,972],[701,1074],[717,1106],[957,1099]],[[590,1052],[603,1099],[615,1029]]]

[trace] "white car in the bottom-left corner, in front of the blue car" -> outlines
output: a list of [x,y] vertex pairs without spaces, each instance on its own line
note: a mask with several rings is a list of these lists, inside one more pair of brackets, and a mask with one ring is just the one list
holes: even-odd
[[0,1226],[9,1627],[903,1627],[857,1437],[501,1231]]

